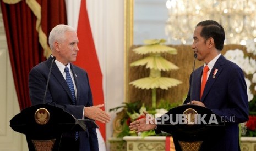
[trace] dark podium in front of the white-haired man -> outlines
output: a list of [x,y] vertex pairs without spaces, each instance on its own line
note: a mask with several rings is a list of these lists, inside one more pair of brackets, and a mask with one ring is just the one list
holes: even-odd
[[10,120],[14,131],[26,135],[29,150],[58,150],[63,132],[96,128],[92,120],[77,120],[62,108],[40,104],[23,109]]

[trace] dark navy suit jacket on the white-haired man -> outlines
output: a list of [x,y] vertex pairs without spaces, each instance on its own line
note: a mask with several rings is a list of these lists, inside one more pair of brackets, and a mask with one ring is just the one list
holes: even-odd
[[[48,60],[32,68],[29,73],[29,94],[32,105],[43,103],[43,95],[45,94],[51,62],[52,59],[50,56]],[[70,69],[74,75],[74,81],[77,87],[76,104],[73,104],[70,89],[55,62],[52,65],[50,82],[46,94],[46,104],[63,108],[65,111],[73,114],[76,119],[82,119],[84,106],[89,107],[93,105],[89,79],[86,71],[71,63]],[[74,133],[65,133],[62,137],[69,137],[69,135],[74,135]],[[99,150],[96,129],[79,132],[79,139],[80,150]]]

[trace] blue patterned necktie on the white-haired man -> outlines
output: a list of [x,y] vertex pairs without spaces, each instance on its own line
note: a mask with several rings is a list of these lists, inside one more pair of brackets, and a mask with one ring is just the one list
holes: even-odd
[[[73,84],[73,81],[72,81],[72,78],[71,78],[71,75],[69,73],[69,69],[68,69],[67,66],[65,67],[64,72],[66,73],[66,81],[67,81],[68,87],[69,87],[69,89],[71,91],[72,101],[75,104],[75,101],[77,100],[75,98],[75,88],[74,88],[74,84]],[[78,137],[79,137],[79,133],[75,132],[75,140],[77,140]]]

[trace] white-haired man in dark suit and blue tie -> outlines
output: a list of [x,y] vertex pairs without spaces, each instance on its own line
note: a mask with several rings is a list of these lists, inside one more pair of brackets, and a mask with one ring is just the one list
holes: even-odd
[[[108,122],[110,115],[100,109],[104,104],[93,106],[88,74],[71,63],[76,60],[79,51],[74,28],[68,25],[54,27],[49,35],[49,45],[52,55],[29,73],[32,105],[43,104],[48,73],[55,56],[45,103],[63,108],[76,119]],[[63,133],[60,150],[99,150],[96,129]]]

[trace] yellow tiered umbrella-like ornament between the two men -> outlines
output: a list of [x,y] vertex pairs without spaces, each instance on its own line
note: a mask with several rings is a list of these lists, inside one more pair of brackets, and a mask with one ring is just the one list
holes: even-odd
[[174,78],[161,77],[162,71],[167,72],[179,69],[172,62],[161,56],[163,53],[177,54],[175,48],[163,45],[165,42],[166,40],[164,39],[144,40],[145,45],[135,48],[133,51],[139,55],[148,54],[148,56],[130,64],[130,66],[145,66],[145,68],[150,69],[149,77],[134,80],[129,84],[139,89],[152,90],[152,108],[156,108],[156,89],[167,90],[182,83],[180,80]]

